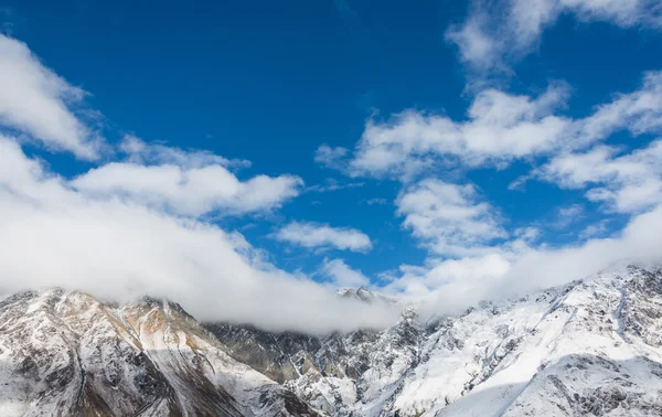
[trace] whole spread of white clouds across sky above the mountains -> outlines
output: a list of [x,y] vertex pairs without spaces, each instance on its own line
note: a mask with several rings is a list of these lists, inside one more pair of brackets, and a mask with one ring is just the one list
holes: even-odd
[[[182,303],[201,320],[322,333],[385,327],[397,318],[396,308],[338,297],[338,287],[367,286],[437,314],[579,279],[613,261],[660,261],[662,73],[642,73],[638,87],[596,103],[584,117],[568,116],[572,86],[563,81],[533,94],[509,93],[492,81],[512,76],[562,14],[658,30],[661,13],[648,0],[474,1],[445,36],[471,87],[463,118],[404,109],[369,118],[353,149],[320,145],[318,165],[396,184],[394,220],[427,254],[423,265],[403,263],[378,279],[346,260],[378,256],[378,239],[359,225],[305,218],[289,218],[268,237],[325,258],[310,275],[279,269],[217,221],[278,212],[307,190],[305,179],[244,178],[238,172],[249,161],[135,135],[113,142],[100,113],[86,106],[88,93],[24,43],[0,35],[0,287],[62,286],[108,299],[149,293]],[[653,139],[608,143],[623,132]],[[65,177],[29,149],[68,152],[92,168]],[[596,223],[562,245],[545,243],[540,224],[514,227],[465,174],[499,174],[517,162],[531,168],[510,192],[526,192],[532,182],[579,190],[587,204],[626,216],[626,226],[606,235],[606,223]],[[362,184],[331,181],[310,190]],[[364,205],[391,203],[362,199]],[[584,210],[562,209],[557,222],[566,225]]]

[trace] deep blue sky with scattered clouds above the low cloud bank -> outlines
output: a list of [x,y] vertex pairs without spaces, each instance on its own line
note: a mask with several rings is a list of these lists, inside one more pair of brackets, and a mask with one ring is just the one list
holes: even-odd
[[662,202],[654,1],[1,6],[24,158],[241,235],[260,270],[452,295]]

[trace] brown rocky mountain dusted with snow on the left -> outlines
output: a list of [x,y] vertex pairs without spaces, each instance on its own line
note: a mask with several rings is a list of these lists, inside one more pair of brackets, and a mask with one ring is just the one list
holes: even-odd
[[0,303],[0,416],[312,416],[179,306],[82,292]]

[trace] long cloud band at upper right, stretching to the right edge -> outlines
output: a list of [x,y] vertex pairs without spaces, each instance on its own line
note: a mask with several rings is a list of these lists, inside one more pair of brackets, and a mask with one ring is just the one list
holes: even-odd
[[431,168],[499,169],[517,159],[586,149],[623,129],[631,135],[662,130],[662,72],[645,73],[639,88],[615,95],[585,118],[558,114],[568,95],[564,83],[535,97],[490,88],[476,96],[466,120],[416,110],[370,119],[341,170],[407,182]]

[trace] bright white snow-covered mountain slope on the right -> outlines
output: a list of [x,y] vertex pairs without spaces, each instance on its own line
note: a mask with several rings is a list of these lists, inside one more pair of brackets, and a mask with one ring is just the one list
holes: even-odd
[[[662,374],[655,368],[662,351],[659,339],[644,339],[662,327],[649,316],[660,309],[647,309],[661,300],[661,277],[634,268],[611,271],[473,310],[430,339],[424,349],[429,359],[407,378],[394,409],[570,416],[592,413],[575,403],[605,404],[609,397],[620,400],[592,414],[660,415]],[[643,327],[636,323],[644,320],[647,329],[638,330]],[[558,406],[556,397],[568,404]]]

